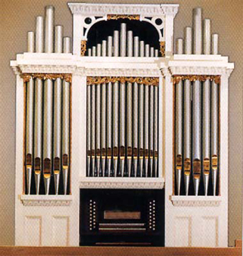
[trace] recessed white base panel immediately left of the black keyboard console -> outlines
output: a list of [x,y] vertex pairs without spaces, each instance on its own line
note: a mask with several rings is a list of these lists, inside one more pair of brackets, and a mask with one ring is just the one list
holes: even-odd
[[53,246],[69,246],[69,217],[53,216]]

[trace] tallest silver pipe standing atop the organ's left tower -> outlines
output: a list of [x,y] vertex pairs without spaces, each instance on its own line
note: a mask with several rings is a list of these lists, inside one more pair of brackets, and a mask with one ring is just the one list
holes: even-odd
[[45,8],[45,49],[47,53],[53,52],[53,36],[54,36],[54,7],[46,6]]

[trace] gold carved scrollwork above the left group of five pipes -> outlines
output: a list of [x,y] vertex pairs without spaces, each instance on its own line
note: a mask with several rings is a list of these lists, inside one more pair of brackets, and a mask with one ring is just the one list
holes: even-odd
[[72,74],[23,73],[20,75],[20,77],[22,79],[24,79],[24,83],[30,81],[31,78],[33,78],[33,79],[38,78],[38,79],[42,79],[42,80],[47,80],[47,79],[56,80],[56,79],[60,78],[60,79],[64,79],[68,83],[72,83]]

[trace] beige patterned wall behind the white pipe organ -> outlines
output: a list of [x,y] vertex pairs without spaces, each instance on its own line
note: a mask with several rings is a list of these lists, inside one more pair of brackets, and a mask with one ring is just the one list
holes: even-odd
[[[44,6],[56,8],[56,24],[64,35],[72,36],[72,14],[67,0],[1,0],[0,9],[0,245],[13,245],[15,233],[15,75],[10,60],[27,49],[27,31],[35,29],[35,17],[44,15]],[[81,2],[72,0],[72,2]],[[88,3],[121,3],[97,0]],[[219,53],[235,62],[229,89],[229,245],[242,238],[242,72],[241,28],[243,2],[240,0],[130,0],[122,3],[179,3],[174,38],[183,37],[185,26],[192,26],[192,9],[203,8],[203,18],[212,20],[212,33],[219,33]],[[19,167],[22,172],[22,167]],[[221,171],[224,171],[222,169]]]

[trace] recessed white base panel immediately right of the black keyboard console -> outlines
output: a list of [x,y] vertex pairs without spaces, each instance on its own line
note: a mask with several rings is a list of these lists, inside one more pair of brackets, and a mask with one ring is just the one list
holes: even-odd
[[192,246],[192,218],[191,217],[176,217],[174,223],[175,246]]

